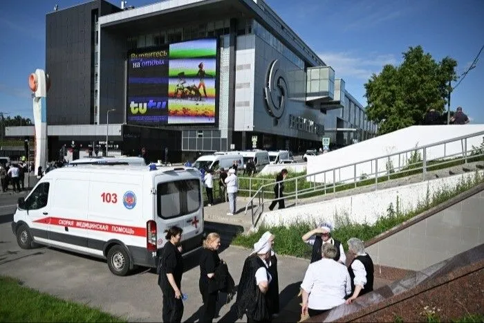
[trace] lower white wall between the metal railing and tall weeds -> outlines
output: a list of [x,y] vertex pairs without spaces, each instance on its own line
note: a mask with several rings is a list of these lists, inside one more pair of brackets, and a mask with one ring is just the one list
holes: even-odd
[[[483,171],[479,173],[481,176],[484,174]],[[354,223],[369,223],[371,225],[380,216],[387,214],[387,208],[390,203],[393,203],[393,207],[396,208],[397,197],[400,211],[406,212],[415,209],[419,202],[425,201],[427,188],[429,197],[431,198],[434,192],[438,192],[438,190],[442,190],[443,188],[450,189],[456,187],[463,178],[474,178],[474,176],[474,173],[467,173],[446,178],[437,178],[402,187],[392,187],[387,190],[344,196],[330,201],[274,210],[262,214],[259,223],[264,223],[268,226],[287,226],[292,223],[300,223],[301,221],[309,223],[330,221],[333,225],[337,225],[338,218],[348,216],[348,219]],[[484,207],[482,210],[484,210]]]

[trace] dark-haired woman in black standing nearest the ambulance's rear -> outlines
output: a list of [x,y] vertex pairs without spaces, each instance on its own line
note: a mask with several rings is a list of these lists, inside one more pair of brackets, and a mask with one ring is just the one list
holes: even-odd
[[183,258],[180,239],[183,230],[177,226],[167,231],[167,243],[163,247],[160,259],[158,286],[163,293],[163,322],[181,322],[183,317],[183,300],[181,279],[183,275]]

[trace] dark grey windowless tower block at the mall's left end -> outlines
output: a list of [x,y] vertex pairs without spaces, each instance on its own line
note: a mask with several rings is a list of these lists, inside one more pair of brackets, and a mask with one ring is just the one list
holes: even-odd
[[[95,0],[46,15],[46,72],[52,80],[48,124],[94,123],[96,21],[118,11],[109,2]],[[122,122],[122,117],[111,117]]]

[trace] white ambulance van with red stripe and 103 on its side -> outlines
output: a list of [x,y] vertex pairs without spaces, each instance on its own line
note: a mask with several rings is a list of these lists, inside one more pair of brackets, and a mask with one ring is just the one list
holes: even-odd
[[191,167],[85,166],[48,172],[19,198],[12,231],[35,243],[107,259],[111,272],[156,268],[165,230],[183,229],[184,255],[201,248],[200,173]]

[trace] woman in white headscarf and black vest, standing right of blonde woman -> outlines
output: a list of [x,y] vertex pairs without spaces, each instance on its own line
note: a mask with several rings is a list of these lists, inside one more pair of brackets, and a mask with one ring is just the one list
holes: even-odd
[[[265,240],[265,241],[264,241]],[[270,257],[272,243],[259,239],[254,243],[254,252],[245,259],[236,299],[236,312],[241,319],[247,315],[247,322],[270,322],[268,290],[272,275]]]

